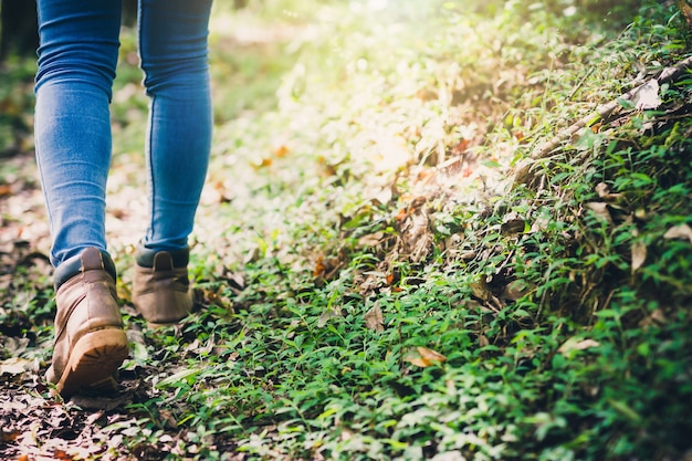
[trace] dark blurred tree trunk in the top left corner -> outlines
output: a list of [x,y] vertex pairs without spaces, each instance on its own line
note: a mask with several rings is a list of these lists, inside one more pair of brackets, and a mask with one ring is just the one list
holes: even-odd
[[9,54],[35,55],[39,46],[34,0],[2,0],[0,3],[0,59]]

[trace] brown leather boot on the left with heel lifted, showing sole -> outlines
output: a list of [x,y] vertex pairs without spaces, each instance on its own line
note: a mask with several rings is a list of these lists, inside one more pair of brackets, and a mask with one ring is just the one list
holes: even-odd
[[46,378],[63,398],[115,388],[113,376],[129,354],[115,276],[111,258],[95,248],[55,271],[55,345]]

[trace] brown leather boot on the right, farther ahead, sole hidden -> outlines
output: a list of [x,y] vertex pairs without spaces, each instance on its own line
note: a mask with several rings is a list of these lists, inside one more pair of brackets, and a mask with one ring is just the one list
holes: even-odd
[[192,311],[189,250],[155,251],[139,247],[133,304],[151,326],[175,324]]

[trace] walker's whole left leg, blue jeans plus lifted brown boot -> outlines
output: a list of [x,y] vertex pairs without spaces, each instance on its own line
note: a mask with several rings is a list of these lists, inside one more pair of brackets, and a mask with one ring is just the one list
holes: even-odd
[[112,388],[128,354],[104,229],[120,1],[38,1],[34,129],[57,306],[46,378],[65,398]]

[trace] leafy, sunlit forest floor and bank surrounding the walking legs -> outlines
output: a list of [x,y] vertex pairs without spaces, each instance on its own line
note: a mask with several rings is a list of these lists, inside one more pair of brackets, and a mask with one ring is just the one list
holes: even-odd
[[162,329],[129,302],[146,98],[124,30],[107,227],[132,356],[113,396],[62,401],[42,377],[32,67],[2,64],[0,458],[692,455],[685,15],[421,3],[217,4],[198,305]]

